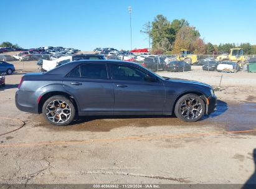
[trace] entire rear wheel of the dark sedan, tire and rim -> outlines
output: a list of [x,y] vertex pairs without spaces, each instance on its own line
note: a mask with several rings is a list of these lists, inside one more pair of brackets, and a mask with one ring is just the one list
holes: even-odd
[[67,126],[75,118],[75,106],[65,96],[52,96],[42,107],[44,119],[55,126]]

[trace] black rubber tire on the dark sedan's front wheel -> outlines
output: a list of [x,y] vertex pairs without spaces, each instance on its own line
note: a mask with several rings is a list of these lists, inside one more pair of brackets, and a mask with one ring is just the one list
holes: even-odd
[[[192,101],[191,104],[186,104],[186,101],[189,102],[191,99],[195,99]],[[200,109],[199,111],[196,111],[196,110],[191,110],[191,109],[194,109],[194,108],[190,108],[191,106],[193,106],[193,102],[194,104],[196,104],[195,102],[197,102],[200,104],[196,105],[195,107]],[[184,105],[185,103],[185,105]],[[186,107],[184,107],[186,106]],[[189,106],[189,108],[187,108]],[[183,107],[183,108],[181,108]],[[182,113],[182,110],[183,109],[183,113]],[[187,111],[189,112],[188,113],[188,118],[185,118],[184,117],[184,114],[187,115],[187,111],[185,110],[187,109]],[[189,115],[192,113],[190,113],[190,111],[195,114],[195,118],[189,118]],[[177,118],[183,120],[183,121],[187,121],[187,122],[195,122],[195,121],[198,121],[199,119],[202,118],[202,116],[204,116],[204,114],[206,113],[206,104],[204,103],[204,100],[198,96],[197,94],[185,94],[184,96],[181,96],[181,98],[178,99],[176,105],[175,105],[175,109],[174,109],[174,113],[175,115],[177,116]],[[192,116],[191,116],[192,117]]]

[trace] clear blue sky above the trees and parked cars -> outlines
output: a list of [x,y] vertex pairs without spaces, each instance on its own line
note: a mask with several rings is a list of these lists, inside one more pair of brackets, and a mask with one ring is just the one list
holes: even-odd
[[0,43],[23,48],[148,47],[143,24],[163,14],[186,19],[205,42],[256,44],[255,0],[0,0]]

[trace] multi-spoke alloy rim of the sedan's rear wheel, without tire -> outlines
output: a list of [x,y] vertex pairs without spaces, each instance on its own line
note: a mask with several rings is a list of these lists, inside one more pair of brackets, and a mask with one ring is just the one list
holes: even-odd
[[71,116],[71,108],[65,101],[56,99],[47,104],[46,116],[54,123],[64,123],[68,121]]

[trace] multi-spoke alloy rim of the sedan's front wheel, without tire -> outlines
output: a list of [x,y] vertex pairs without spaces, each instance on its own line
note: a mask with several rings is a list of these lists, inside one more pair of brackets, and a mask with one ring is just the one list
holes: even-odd
[[181,115],[183,118],[193,120],[201,116],[202,104],[195,98],[187,98],[181,103]]

